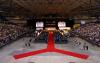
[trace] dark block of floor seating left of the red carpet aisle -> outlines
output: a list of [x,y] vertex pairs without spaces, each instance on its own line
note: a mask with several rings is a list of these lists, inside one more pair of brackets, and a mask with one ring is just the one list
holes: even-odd
[[48,40],[48,32],[43,31],[40,33],[38,37],[35,39],[35,43],[47,43]]

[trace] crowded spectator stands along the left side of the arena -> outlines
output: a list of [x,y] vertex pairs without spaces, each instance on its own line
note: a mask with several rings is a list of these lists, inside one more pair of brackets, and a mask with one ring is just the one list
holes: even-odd
[[20,37],[25,33],[25,30],[20,26],[0,23],[0,47]]

